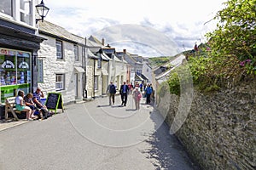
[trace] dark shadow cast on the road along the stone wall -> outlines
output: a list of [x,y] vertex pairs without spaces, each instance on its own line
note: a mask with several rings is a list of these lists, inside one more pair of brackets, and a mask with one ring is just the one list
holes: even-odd
[[[154,111],[155,112],[155,109]],[[159,113],[157,113],[159,114]],[[153,115],[150,118],[154,121]],[[199,167],[189,159],[183,145],[179,142],[175,135],[169,133],[170,127],[166,122],[155,129],[155,132],[146,140],[151,148],[143,151],[148,155],[148,159],[155,159],[156,169],[172,169],[172,170],[200,170]]]

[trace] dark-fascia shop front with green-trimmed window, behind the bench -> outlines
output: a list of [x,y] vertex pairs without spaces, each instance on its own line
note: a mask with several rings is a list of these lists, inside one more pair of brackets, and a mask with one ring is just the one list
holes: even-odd
[[38,86],[36,30],[0,19],[0,105],[19,90],[25,94]]

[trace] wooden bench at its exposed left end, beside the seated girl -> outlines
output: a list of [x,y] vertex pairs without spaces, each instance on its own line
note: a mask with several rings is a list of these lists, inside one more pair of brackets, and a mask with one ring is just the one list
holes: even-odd
[[5,120],[8,119],[8,112],[11,112],[15,117],[16,121],[19,121],[18,116],[16,113],[21,113],[21,111],[17,111],[15,108],[15,97],[10,97],[5,99]]

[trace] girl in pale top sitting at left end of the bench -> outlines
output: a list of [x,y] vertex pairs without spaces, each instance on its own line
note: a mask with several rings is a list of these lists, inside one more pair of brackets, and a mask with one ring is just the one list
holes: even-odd
[[24,105],[23,97],[24,97],[24,92],[22,90],[20,90],[18,92],[18,96],[15,99],[16,109],[18,111],[26,111],[26,120],[31,121],[32,120],[32,118],[31,118],[32,110],[28,106]]

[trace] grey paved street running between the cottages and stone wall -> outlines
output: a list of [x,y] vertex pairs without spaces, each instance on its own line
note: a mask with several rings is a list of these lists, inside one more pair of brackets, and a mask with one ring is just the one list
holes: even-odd
[[0,132],[0,169],[198,169],[150,105],[108,98]]

